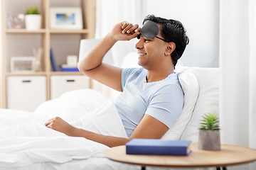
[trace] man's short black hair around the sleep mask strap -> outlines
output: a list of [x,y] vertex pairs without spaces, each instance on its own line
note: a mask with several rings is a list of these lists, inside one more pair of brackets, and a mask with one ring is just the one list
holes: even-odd
[[161,25],[161,36],[167,42],[174,42],[176,48],[171,53],[171,59],[173,60],[174,67],[177,64],[178,59],[183,54],[186,45],[188,45],[189,38],[186,35],[186,30],[180,21],[173,19],[165,19],[154,15],[148,15],[144,18],[143,24],[146,21],[153,21]]

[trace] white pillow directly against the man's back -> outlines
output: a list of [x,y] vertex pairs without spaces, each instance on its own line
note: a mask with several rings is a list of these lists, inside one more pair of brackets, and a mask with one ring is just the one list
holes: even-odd
[[180,140],[188,122],[191,120],[193,110],[199,94],[199,85],[195,75],[189,72],[178,74],[178,80],[184,93],[184,105],[181,115],[178,116],[174,125],[166,132],[161,140]]

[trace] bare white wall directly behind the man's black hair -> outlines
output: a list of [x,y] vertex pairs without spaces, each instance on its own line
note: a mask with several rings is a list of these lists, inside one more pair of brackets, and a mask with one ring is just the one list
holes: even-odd
[[219,0],[143,0],[143,14],[181,21],[190,42],[183,65],[218,67]]

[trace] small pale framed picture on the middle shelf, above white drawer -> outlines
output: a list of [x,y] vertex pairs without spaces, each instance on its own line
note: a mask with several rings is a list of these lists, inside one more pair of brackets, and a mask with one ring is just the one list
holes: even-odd
[[11,57],[11,72],[35,72],[35,57]]

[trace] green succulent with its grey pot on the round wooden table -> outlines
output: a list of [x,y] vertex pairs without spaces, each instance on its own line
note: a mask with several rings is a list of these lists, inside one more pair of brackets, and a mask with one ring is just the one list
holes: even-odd
[[220,150],[220,126],[215,113],[203,116],[199,130],[198,149]]

